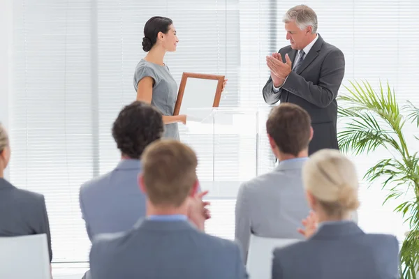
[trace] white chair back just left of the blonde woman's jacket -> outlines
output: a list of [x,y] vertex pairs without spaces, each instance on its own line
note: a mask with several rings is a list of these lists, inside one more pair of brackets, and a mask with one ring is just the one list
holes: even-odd
[[251,279],[270,279],[272,277],[272,259],[275,248],[296,243],[298,239],[271,239],[267,237],[250,237],[247,254],[247,273]]

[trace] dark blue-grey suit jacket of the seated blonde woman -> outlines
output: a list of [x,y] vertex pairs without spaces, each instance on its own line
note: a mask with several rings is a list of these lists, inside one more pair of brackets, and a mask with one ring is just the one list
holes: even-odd
[[307,241],[274,250],[272,279],[399,278],[395,236],[365,234],[352,222],[322,225]]

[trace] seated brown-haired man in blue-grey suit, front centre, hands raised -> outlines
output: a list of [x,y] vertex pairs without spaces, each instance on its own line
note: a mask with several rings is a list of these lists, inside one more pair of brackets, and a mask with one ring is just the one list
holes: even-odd
[[[203,232],[196,154],[175,140],[147,146],[140,187],[147,218],[128,232],[99,235],[90,252],[94,279],[247,278],[237,243]],[[192,223],[188,221],[192,220]]]

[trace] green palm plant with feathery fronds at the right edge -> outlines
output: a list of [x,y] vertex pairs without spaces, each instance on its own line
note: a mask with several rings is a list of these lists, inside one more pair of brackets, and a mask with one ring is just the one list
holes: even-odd
[[[341,151],[355,155],[371,153],[378,148],[387,149],[388,158],[378,160],[365,173],[370,184],[383,179],[388,190],[383,203],[390,199],[402,200],[395,211],[402,214],[411,231],[400,251],[401,278],[416,279],[419,264],[419,138],[408,146],[404,128],[406,121],[419,127],[419,108],[411,102],[403,107],[397,103],[395,91],[387,83],[374,91],[368,82],[351,82],[346,86],[348,94],[340,96],[343,105],[338,109],[339,120],[344,128],[338,133]],[[407,191],[414,193],[406,198]],[[403,196],[403,197],[402,197]],[[399,198],[399,199],[398,199]]]

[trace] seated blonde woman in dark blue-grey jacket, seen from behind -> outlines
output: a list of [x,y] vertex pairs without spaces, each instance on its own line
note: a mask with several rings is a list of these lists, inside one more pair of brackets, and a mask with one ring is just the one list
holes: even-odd
[[312,209],[299,230],[307,240],[274,250],[272,279],[398,278],[395,236],[366,234],[351,221],[359,206],[351,160],[323,149],[307,160],[302,176]]

